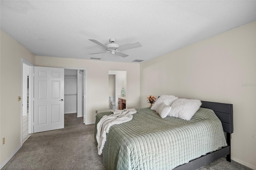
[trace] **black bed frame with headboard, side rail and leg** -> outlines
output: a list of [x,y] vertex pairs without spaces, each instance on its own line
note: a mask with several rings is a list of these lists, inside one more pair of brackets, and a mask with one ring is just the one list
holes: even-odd
[[195,170],[226,156],[226,160],[231,162],[231,136],[230,134],[233,133],[233,105],[232,104],[225,104],[225,103],[215,103],[209,101],[202,101],[201,107],[212,109],[217,117],[220,119],[222,123],[222,127],[224,132],[226,132],[226,141],[228,146],[223,147],[219,150],[214,152],[208,153],[204,156],[201,156],[197,159],[191,160],[187,164],[180,165],[174,170]]

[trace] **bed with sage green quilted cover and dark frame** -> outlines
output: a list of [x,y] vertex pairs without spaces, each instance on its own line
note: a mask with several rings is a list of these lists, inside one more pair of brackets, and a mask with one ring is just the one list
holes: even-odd
[[[202,101],[190,121],[161,119],[150,108],[136,110],[132,121],[113,125],[107,134],[102,154],[107,169],[194,170],[223,156],[231,161],[232,104]],[[110,114],[96,115],[95,127]]]

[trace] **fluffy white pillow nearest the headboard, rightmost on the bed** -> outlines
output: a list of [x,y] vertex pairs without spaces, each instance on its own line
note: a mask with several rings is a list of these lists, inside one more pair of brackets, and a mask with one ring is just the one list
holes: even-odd
[[189,121],[201,105],[201,101],[197,99],[178,99],[172,103],[168,116]]

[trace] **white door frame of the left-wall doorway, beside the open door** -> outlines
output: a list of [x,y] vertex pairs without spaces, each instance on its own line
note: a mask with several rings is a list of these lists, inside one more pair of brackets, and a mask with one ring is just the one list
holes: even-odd
[[[28,89],[28,110],[30,111],[30,114],[28,114],[28,134],[32,134],[34,133],[34,129],[33,129],[33,120],[34,120],[34,64],[31,63],[30,61],[22,58],[21,60],[21,75],[23,77],[23,64],[26,64],[29,66],[29,73],[28,76],[29,78],[29,89]],[[27,94],[22,94],[22,89],[23,89],[23,79],[21,79],[21,100],[23,95],[27,95]],[[22,145],[22,103],[23,101],[21,101],[21,145]]]

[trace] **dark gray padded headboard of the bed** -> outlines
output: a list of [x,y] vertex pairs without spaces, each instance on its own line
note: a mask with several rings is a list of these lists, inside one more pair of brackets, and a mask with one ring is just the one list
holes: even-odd
[[224,132],[233,133],[233,105],[202,101],[201,107],[212,109],[222,123]]

